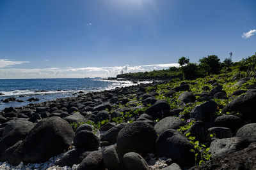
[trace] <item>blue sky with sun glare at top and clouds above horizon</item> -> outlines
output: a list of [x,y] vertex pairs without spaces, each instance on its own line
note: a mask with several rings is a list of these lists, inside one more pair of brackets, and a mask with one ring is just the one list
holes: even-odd
[[256,52],[255,0],[1,0],[0,78],[108,77]]

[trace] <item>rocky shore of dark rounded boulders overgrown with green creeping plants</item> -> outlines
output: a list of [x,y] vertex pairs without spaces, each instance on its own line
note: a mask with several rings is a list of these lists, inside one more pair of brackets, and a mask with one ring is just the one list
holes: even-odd
[[255,169],[256,86],[241,90],[250,78],[234,77],[228,82],[241,86],[231,95],[227,79],[153,82],[5,108],[0,167]]

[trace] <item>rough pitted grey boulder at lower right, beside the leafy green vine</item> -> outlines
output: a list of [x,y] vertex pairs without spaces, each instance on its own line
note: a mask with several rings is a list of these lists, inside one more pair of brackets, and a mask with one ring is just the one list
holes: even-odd
[[216,158],[242,150],[244,146],[243,139],[238,137],[216,139],[212,141],[209,152],[212,158]]

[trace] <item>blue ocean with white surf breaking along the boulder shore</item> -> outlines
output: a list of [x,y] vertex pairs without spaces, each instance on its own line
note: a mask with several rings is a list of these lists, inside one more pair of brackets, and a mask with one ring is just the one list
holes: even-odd
[[[1,79],[0,110],[10,106],[18,107],[29,103],[41,103],[61,97],[75,97],[80,91],[86,93],[131,85],[136,84],[131,81],[99,78]],[[4,99],[9,97],[15,97],[15,101],[4,103]],[[39,101],[27,101],[31,97],[36,97]]]

